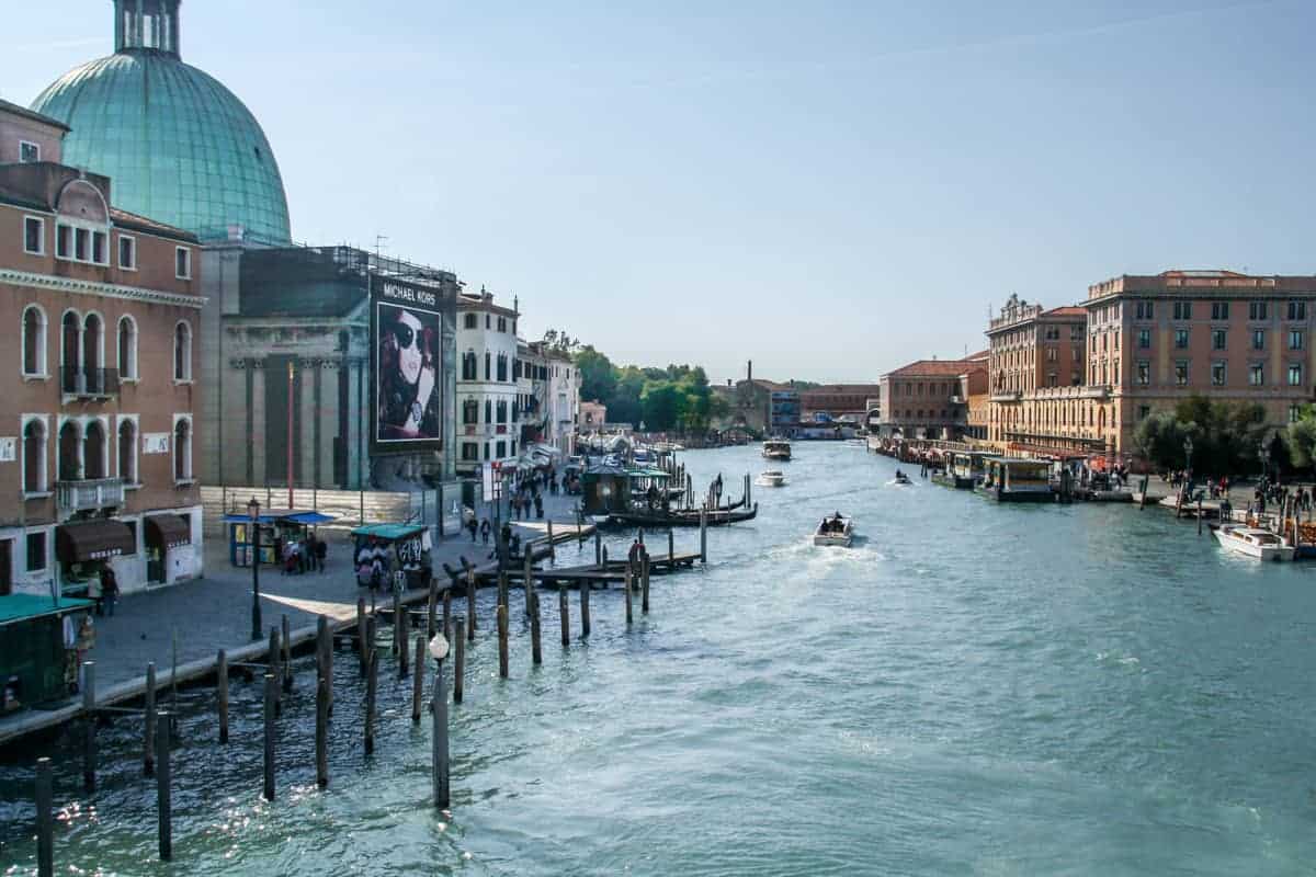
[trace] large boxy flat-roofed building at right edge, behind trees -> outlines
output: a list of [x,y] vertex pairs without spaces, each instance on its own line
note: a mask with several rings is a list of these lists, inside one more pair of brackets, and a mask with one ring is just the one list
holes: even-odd
[[1120,275],[1088,287],[1087,434],[1129,455],[1133,430],[1192,394],[1259,402],[1271,426],[1312,401],[1316,277]]

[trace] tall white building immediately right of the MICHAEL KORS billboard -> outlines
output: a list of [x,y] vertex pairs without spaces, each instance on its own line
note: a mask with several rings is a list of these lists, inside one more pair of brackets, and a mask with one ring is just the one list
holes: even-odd
[[520,454],[516,308],[494,295],[457,297],[457,473],[474,476],[482,464],[508,463]]

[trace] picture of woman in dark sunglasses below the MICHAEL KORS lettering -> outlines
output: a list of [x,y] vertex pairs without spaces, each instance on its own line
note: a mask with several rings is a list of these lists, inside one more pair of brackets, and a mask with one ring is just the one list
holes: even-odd
[[378,304],[375,396],[378,442],[442,438],[438,363],[442,317],[430,310]]

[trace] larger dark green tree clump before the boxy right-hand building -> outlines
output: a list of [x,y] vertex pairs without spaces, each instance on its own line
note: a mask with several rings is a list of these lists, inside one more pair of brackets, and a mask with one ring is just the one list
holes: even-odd
[[1174,412],[1157,412],[1138,423],[1133,446],[1157,468],[1182,469],[1190,468],[1184,440],[1191,438],[1194,472],[1234,475],[1258,467],[1266,431],[1266,409],[1257,402],[1230,405],[1190,396]]

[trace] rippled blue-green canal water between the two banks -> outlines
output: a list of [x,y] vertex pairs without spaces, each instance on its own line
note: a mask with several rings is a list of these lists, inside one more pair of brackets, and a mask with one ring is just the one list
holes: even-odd
[[[155,861],[136,722],[103,731],[89,797],[74,743],[43,747],[61,873],[1311,873],[1316,567],[1223,556],[1161,510],[995,505],[898,486],[892,460],[854,444],[795,452],[790,485],[757,488],[754,522],[712,531],[707,568],[654,579],[629,631],[620,593],[595,593],[588,644],[563,651],[545,600],[532,669],[513,613],[504,684],[482,594],[450,815],[428,805],[409,681],[383,664],[365,759],[340,652],[325,792],[309,664],[274,803],[257,686],[234,682],[225,748],[213,693],[183,693],[172,865]],[[729,493],[765,468],[755,448],[684,460]],[[862,539],[815,548],[836,510]],[[34,755],[0,764],[0,874],[34,873]]]

